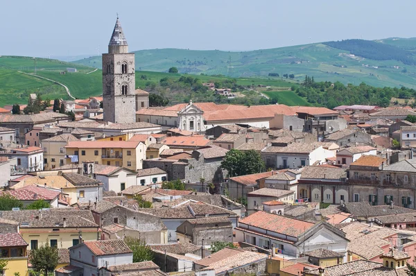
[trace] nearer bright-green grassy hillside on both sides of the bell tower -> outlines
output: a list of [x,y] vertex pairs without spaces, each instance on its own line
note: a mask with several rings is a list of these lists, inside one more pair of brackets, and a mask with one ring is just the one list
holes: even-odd
[[[76,68],[76,73],[66,73],[67,68]],[[35,73],[36,69],[36,73]],[[209,94],[191,93],[189,89],[177,89],[174,91],[166,91],[171,87],[160,87],[161,79],[166,79],[170,82],[177,81],[182,74],[168,74],[154,71],[137,71],[136,86],[142,89],[148,89],[150,92],[160,93],[164,92],[171,103],[182,103],[193,98],[194,101],[211,101],[212,92]],[[43,77],[43,78],[40,78]],[[45,80],[47,78],[49,80]],[[227,77],[212,77],[212,76],[198,76],[200,83],[202,82],[226,82],[230,78]],[[10,105],[13,103],[26,104],[28,96],[31,93],[40,93],[42,98],[64,98],[68,99],[66,90],[62,83],[68,87],[69,92],[75,98],[88,98],[89,96],[99,96],[102,94],[102,71],[92,67],[86,67],[80,64],[73,64],[62,62],[60,60],[49,60],[42,58],[28,58],[16,56],[1,56],[0,57],[0,106]],[[273,91],[284,91],[289,94],[282,94],[279,101],[282,103],[288,98],[288,103],[291,101],[302,102],[304,98],[297,96],[293,92],[288,91],[291,86],[296,85],[292,80],[280,80],[279,78],[237,78],[236,84],[244,87],[252,85],[270,86]],[[253,99],[253,104],[258,103],[260,95],[255,92],[248,92],[242,89],[243,93],[250,94],[248,98]],[[244,97],[244,96],[242,96]],[[240,98],[239,103],[245,100]]]

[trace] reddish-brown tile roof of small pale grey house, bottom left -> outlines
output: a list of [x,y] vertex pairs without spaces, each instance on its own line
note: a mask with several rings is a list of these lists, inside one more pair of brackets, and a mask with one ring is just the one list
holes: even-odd
[[132,250],[128,248],[125,242],[119,239],[84,241],[84,243],[80,243],[80,245],[87,246],[87,248],[96,256],[132,253]]

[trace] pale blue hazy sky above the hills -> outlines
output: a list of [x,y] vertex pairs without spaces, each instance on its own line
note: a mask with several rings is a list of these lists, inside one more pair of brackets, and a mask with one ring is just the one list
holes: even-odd
[[415,10],[414,0],[3,0],[0,55],[106,52],[116,12],[130,51],[241,51],[416,37]]

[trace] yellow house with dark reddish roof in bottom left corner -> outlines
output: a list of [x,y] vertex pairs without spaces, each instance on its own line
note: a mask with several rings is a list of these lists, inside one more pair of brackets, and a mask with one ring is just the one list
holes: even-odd
[[0,269],[5,276],[13,276],[16,273],[26,275],[28,272],[28,255],[26,248],[28,243],[19,233],[0,232],[1,258],[6,259],[6,267]]

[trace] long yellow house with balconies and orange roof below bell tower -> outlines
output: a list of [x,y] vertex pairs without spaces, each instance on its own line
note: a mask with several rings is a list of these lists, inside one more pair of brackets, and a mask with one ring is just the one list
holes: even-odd
[[132,170],[142,169],[146,159],[146,145],[140,141],[69,141],[65,150],[67,162],[93,161]]

